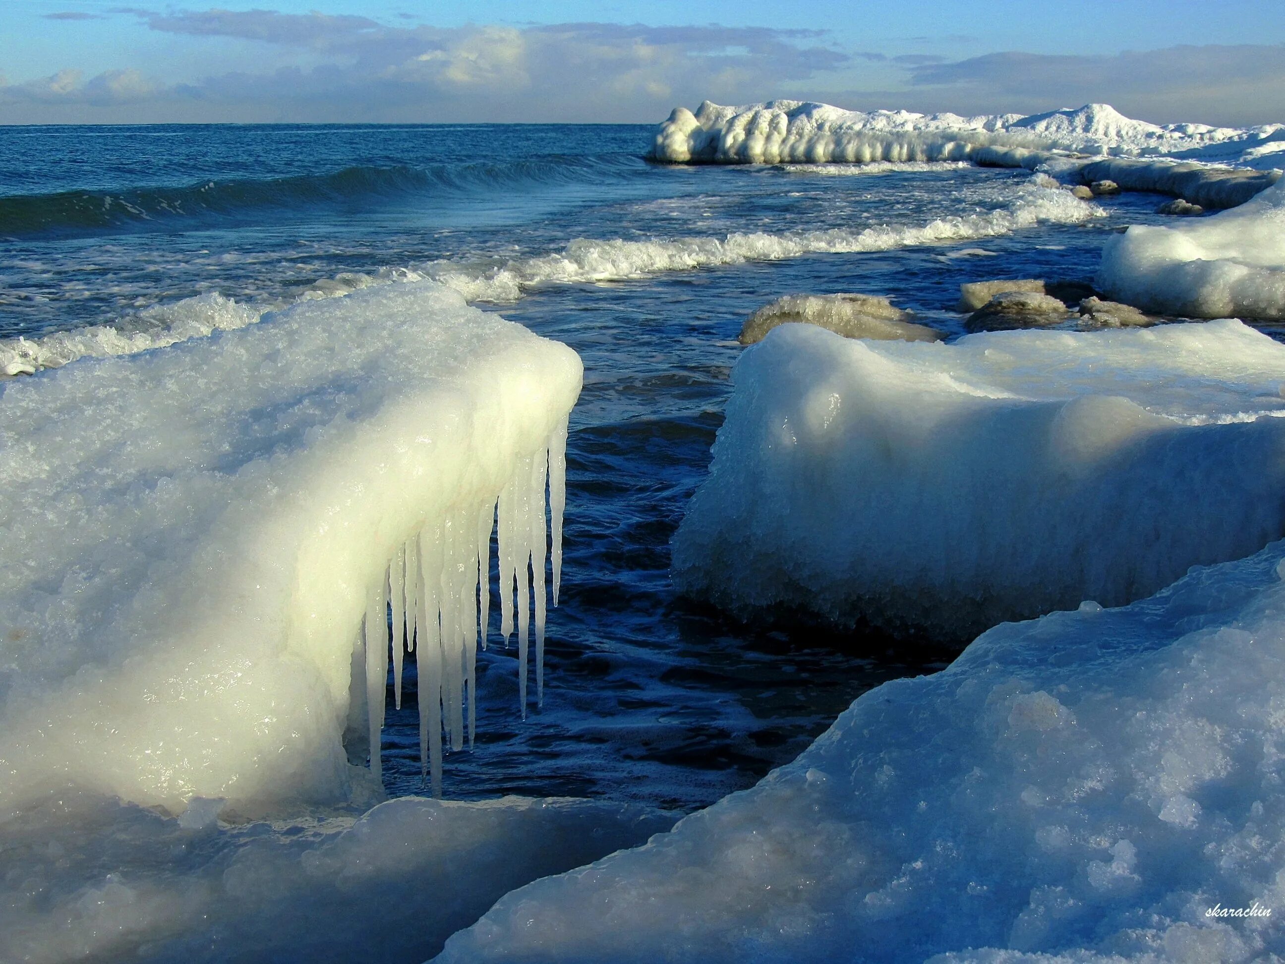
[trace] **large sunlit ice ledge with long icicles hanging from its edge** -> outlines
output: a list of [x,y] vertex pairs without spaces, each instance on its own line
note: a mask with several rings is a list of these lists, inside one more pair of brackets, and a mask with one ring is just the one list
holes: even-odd
[[389,614],[437,776],[443,731],[472,738],[496,521],[526,706],[581,377],[414,283],[4,383],[0,806],[342,799],[346,726],[378,775]]

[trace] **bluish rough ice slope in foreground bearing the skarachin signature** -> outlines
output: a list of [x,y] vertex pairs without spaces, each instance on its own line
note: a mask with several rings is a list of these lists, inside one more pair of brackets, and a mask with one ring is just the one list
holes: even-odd
[[438,961],[1275,959],[1282,575],[1275,542],[998,626],[753,789],[505,896]]

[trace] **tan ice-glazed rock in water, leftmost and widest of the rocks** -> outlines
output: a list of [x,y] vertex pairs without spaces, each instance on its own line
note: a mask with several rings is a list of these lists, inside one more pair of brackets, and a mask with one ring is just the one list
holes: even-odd
[[933,328],[914,324],[911,317],[911,312],[874,294],[786,294],[750,315],[738,341],[754,344],[777,325],[792,321],[817,325],[844,338],[938,342],[944,337]]

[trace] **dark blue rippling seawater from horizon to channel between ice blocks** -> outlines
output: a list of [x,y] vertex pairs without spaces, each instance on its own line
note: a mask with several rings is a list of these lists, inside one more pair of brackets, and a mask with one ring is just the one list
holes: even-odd
[[[966,167],[667,167],[644,159],[651,134],[0,129],[0,337],[130,325],[207,292],[271,307],[352,278],[396,283],[425,263],[484,272],[577,239],[917,228],[1002,208],[1029,180]],[[586,383],[572,416],[544,710],[520,720],[515,650],[492,636],[479,654],[477,747],[447,756],[446,794],[702,806],[793,758],[866,689],[943,666],[950,653],[930,640],[744,627],[675,596],[668,542],[708,465],[741,321],[786,293],[866,292],[957,332],[961,281],[1088,280],[1106,233],[1159,221],[1158,201],[1126,194],[1087,224],[950,244],[546,280],[513,303],[483,305],[576,348]],[[412,671],[407,692],[384,733],[392,793],[420,789]]]

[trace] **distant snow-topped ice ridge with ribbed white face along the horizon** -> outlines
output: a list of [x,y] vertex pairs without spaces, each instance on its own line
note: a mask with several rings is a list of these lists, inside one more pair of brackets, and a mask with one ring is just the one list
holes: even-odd
[[1160,126],[1124,117],[1109,104],[1029,117],[961,117],[844,111],[799,100],[747,107],[707,100],[695,113],[675,108],[657,131],[650,156],[669,163],[962,161],[1047,170],[1083,184],[1114,180],[1128,190],[1176,194],[1218,208],[1244,203],[1280,179],[1285,125]]

